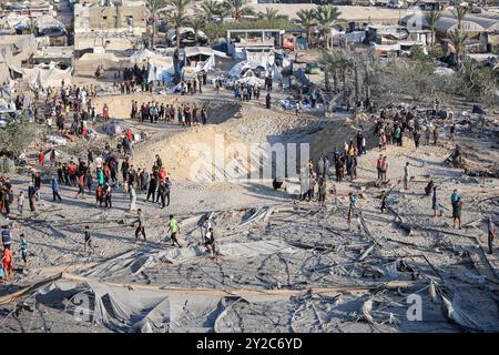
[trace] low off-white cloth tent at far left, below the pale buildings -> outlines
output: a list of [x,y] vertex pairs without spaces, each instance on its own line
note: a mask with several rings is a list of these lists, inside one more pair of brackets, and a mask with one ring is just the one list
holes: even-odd
[[65,70],[55,67],[55,63],[39,64],[33,69],[22,69],[23,78],[28,80],[31,89],[47,89],[49,87],[59,88],[71,83],[72,68]]

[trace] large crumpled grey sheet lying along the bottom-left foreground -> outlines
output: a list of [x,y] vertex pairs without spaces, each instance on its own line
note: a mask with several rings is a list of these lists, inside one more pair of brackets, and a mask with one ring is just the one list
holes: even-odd
[[[78,308],[70,307],[67,312],[116,332],[213,332],[216,316],[224,310],[220,296],[124,288],[91,280],[83,283],[57,281],[39,293],[47,295],[58,291],[74,293]],[[80,300],[91,302],[80,303]]]

